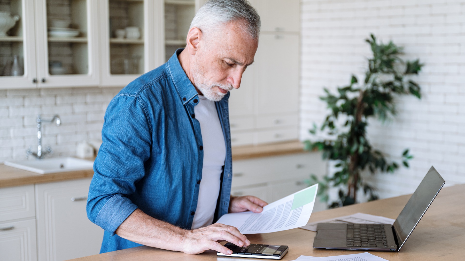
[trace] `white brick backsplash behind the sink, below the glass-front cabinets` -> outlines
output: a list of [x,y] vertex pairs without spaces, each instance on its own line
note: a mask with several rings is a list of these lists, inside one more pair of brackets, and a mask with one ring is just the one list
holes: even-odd
[[120,88],[0,90],[0,163],[37,150],[35,119],[59,114],[62,124],[43,124],[43,145],[72,156],[80,141],[100,139],[106,106]]

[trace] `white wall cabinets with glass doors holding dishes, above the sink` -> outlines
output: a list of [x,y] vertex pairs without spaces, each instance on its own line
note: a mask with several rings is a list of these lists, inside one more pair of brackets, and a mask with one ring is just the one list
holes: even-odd
[[0,0],[0,89],[125,86],[186,45],[204,0]]

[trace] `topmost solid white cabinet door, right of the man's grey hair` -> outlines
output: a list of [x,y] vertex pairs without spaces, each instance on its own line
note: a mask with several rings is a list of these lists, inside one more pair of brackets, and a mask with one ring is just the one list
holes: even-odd
[[255,0],[254,6],[260,15],[261,31],[299,32],[299,0]]

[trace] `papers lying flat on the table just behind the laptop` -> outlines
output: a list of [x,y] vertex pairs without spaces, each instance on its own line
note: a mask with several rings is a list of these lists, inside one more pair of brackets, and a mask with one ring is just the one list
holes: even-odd
[[394,219],[379,216],[379,215],[370,215],[365,213],[356,213],[353,215],[339,216],[332,219],[321,220],[317,222],[308,223],[303,227],[303,229],[310,231],[317,231],[318,223],[356,223],[356,224],[394,224]]

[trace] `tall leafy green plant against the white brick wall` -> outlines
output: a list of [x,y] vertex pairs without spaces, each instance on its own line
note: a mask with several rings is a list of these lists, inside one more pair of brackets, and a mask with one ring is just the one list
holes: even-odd
[[[366,183],[360,175],[364,171],[375,174],[394,172],[399,168],[396,162],[388,162],[383,153],[372,148],[366,137],[369,118],[382,122],[396,115],[395,98],[400,95],[413,95],[421,98],[420,86],[411,79],[418,74],[422,64],[419,60],[404,62],[399,58],[402,48],[392,41],[378,43],[372,34],[366,42],[371,46],[373,56],[368,59],[368,68],[362,82],[352,75],[350,84],[339,87],[333,94],[325,88],[325,101],[330,113],[326,116],[319,131],[329,138],[321,139],[317,135],[317,125],[313,124],[310,133],[316,141],[306,140],[306,150],[320,150],[323,158],[332,161],[337,169],[332,176],[319,180],[311,175],[309,184],[319,183],[319,195],[328,201],[327,191],[331,186],[339,187],[339,200],[329,207],[350,205],[357,202],[360,189],[369,196],[369,200],[378,198],[375,188]],[[402,153],[402,162],[408,167],[412,159],[409,150]],[[345,187],[345,188],[344,188]]]

